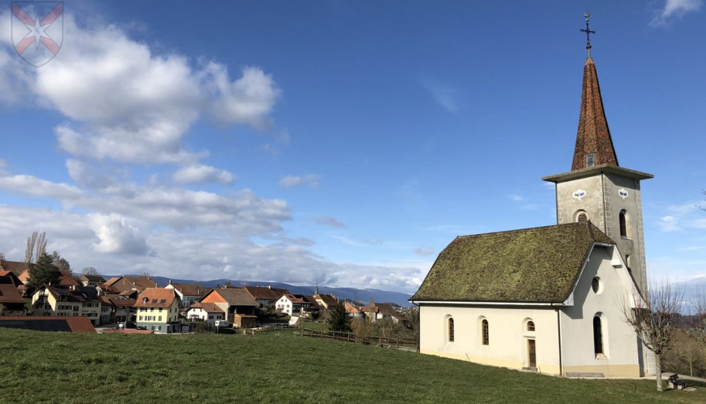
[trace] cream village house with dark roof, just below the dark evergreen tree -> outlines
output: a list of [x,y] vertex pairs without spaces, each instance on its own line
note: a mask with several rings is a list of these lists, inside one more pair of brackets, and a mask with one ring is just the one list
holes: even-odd
[[102,300],[95,288],[44,285],[32,295],[32,314],[56,317],[88,317],[100,324]]

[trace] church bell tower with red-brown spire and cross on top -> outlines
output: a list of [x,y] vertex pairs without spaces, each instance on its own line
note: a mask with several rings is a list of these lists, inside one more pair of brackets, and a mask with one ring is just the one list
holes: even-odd
[[571,171],[542,178],[555,184],[557,224],[588,221],[618,245],[628,271],[642,295],[647,292],[645,243],[642,231],[640,180],[652,174],[625,169],[608,128],[596,65],[591,58],[588,17],[588,57],[583,67],[581,112]]

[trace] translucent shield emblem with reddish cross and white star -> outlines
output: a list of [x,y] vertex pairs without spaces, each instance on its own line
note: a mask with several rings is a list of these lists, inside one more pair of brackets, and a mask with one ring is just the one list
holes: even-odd
[[13,1],[12,45],[27,63],[40,67],[59,53],[64,41],[63,1]]

